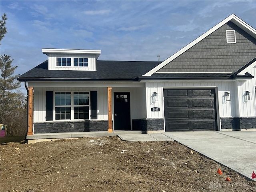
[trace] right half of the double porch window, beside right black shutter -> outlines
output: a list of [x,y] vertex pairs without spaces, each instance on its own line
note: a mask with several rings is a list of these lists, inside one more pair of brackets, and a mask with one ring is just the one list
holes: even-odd
[[89,119],[88,92],[74,92],[74,119]]

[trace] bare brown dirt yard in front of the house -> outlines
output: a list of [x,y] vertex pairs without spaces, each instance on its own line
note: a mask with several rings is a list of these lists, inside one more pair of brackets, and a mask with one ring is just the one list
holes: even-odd
[[0,173],[1,192],[256,191],[255,182],[176,142],[117,137],[2,144]]

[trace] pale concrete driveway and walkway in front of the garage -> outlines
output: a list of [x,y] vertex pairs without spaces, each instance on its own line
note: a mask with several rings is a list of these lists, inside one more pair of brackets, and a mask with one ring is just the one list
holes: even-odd
[[256,132],[200,131],[118,135],[126,141],[176,140],[194,151],[235,170],[248,180],[256,173]]

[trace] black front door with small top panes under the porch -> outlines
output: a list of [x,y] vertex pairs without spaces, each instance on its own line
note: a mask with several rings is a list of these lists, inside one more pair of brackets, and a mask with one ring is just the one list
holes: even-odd
[[130,130],[130,93],[114,93],[114,126],[115,130]]

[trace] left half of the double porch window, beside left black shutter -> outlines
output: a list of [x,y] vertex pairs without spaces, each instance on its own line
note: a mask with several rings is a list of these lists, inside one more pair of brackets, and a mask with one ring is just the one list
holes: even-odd
[[55,119],[71,119],[71,93],[55,93]]

